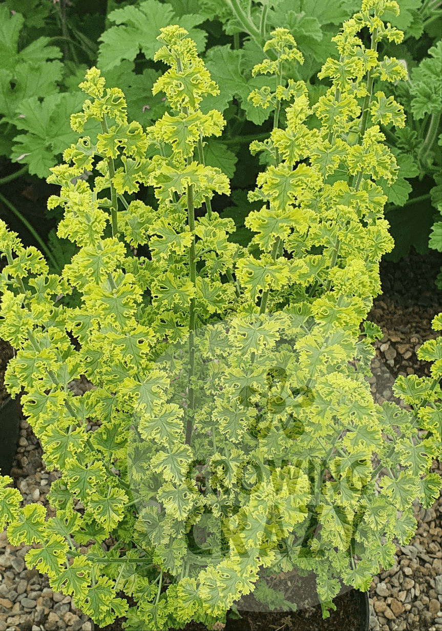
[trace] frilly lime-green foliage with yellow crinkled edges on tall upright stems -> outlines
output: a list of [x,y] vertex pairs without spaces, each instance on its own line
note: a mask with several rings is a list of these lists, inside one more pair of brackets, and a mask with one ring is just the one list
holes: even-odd
[[[441,450],[440,346],[419,351],[431,378],[397,380],[402,410],[376,406],[364,379],[380,329],[365,324],[359,341],[393,247],[376,180],[394,184],[398,167],[378,123],[404,126],[400,105],[371,95],[385,71],[378,42],[402,38],[385,9],[398,13],[364,0],[344,23],[340,59],[321,71],[332,85],[313,105],[305,83],[286,78],[304,61],[296,41],[286,28],[270,33],[274,59],[262,51],[253,74],[263,82],[248,97],[273,112],[270,138],[250,144],[267,166],[248,194],[248,247],[211,208],[230,194],[227,175],[205,162],[225,120],[201,107],[219,89],[178,25],[161,28],[154,54],[169,69],[153,93],[173,115],[144,131],[100,70],[80,84],[89,98],[71,127],[102,131],[66,148],[48,178],[61,187],[48,202],[64,210],[58,236],[78,247],[62,273],[48,274],[40,252],[0,223],[0,336],[17,351],[5,384],[13,396],[24,388],[45,464],[63,474],[48,496],[55,517],[3,488],[1,525],[13,545],[42,545],[28,566],[99,625],[126,614],[131,629],[212,627],[260,573],[293,568],[316,573],[327,616],[339,579],[367,590],[392,566],[393,540],[407,543],[416,527],[410,500],[438,497],[427,472]],[[95,178],[79,177],[93,168]],[[156,208],[129,203],[140,184],[154,188]],[[60,305],[74,288],[79,306]],[[81,374],[96,387],[75,398],[67,386]],[[104,551],[109,535],[118,543]],[[129,611],[120,590],[137,603]]]

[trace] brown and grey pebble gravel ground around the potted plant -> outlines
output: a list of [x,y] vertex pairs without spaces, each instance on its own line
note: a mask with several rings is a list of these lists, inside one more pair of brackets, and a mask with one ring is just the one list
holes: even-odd
[[[398,264],[383,266],[383,295],[375,300],[369,319],[381,326],[384,337],[376,343],[369,383],[377,403],[388,400],[404,406],[393,398],[392,384],[398,374],[428,374],[429,367],[417,360],[416,350],[422,341],[436,337],[431,319],[442,311],[442,292],[433,285],[439,262],[432,253],[424,257],[423,263],[422,257],[411,254]],[[84,378],[72,382],[74,394],[81,395],[90,387],[93,386]],[[97,427],[87,426],[89,431]],[[40,442],[25,420],[21,421],[20,435],[11,469],[13,486],[20,489],[23,504],[42,504],[48,517],[52,517],[55,510],[45,496],[52,481],[61,475],[45,471]],[[442,464],[438,461],[433,461],[432,470],[442,476]],[[76,509],[81,508],[76,505]],[[397,547],[395,565],[381,572],[371,584],[373,631],[442,631],[442,497],[431,509],[422,509],[419,504],[414,509],[416,536],[408,546]],[[109,539],[102,545],[107,550],[114,543]],[[53,593],[47,575],[26,568],[24,557],[31,547],[38,546],[11,546],[6,529],[0,533],[0,631],[93,630],[93,622],[74,608],[70,596]],[[83,552],[88,547],[78,546]]]

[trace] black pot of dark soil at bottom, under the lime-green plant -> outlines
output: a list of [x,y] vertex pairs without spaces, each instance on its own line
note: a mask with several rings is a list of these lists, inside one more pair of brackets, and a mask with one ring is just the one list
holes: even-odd
[[285,611],[281,607],[272,611],[267,604],[257,601],[253,593],[248,594],[235,603],[241,618],[237,618],[232,610],[228,611],[224,631],[368,631],[368,592],[343,586],[333,601],[336,610],[329,610],[329,618],[323,618],[313,574],[298,577],[294,570],[283,574],[279,581],[270,582],[267,578],[266,582],[277,591],[278,587],[284,587],[284,598],[289,586],[294,584],[295,590],[292,587],[291,596],[286,601],[296,604],[296,611],[288,606]]

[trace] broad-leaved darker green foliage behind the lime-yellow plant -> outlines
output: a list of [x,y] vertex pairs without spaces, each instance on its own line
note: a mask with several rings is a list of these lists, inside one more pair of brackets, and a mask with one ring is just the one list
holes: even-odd
[[[442,251],[442,9],[441,0],[399,0],[400,15],[388,16],[405,31],[399,45],[381,44],[383,56],[401,59],[409,71],[406,84],[377,80],[373,88],[387,97],[395,92],[407,114],[404,129],[381,126],[401,167],[392,187],[381,183],[397,261],[410,245],[424,254]],[[236,6],[236,13],[235,13]],[[55,235],[61,211],[48,211],[45,202],[53,187],[45,183],[49,167],[61,159],[62,148],[78,134],[69,127],[69,113],[79,111],[83,97],[78,83],[87,68],[102,70],[108,86],[120,86],[128,104],[129,121],[150,126],[167,110],[161,93],[151,88],[166,66],[154,62],[161,27],[179,23],[197,43],[197,52],[221,88],[204,103],[223,112],[223,136],[210,139],[206,163],[231,179],[230,198],[216,200],[217,211],[235,220],[237,242],[251,238],[244,226],[253,204],[247,191],[265,163],[252,156],[248,144],[270,135],[270,107],[253,107],[248,94],[267,82],[252,77],[262,60],[262,45],[270,30],[288,28],[305,56],[291,78],[305,80],[314,103],[329,87],[316,74],[327,57],[335,57],[331,38],[342,21],[358,9],[358,0],[6,0],[0,3],[0,216],[18,230],[25,244],[39,245],[54,271],[71,259],[73,244]],[[92,12],[91,12],[92,11]],[[281,112],[284,125],[284,110]],[[86,133],[99,131],[91,123]],[[310,126],[319,126],[313,117]],[[237,169],[237,165],[241,168]],[[20,166],[21,165],[21,166]],[[119,165],[117,165],[119,166]],[[19,167],[19,168],[18,168]],[[87,179],[88,172],[83,175]],[[151,187],[144,187],[146,204],[154,204]],[[42,224],[42,220],[45,220]],[[442,273],[438,284],[442,288]]]

